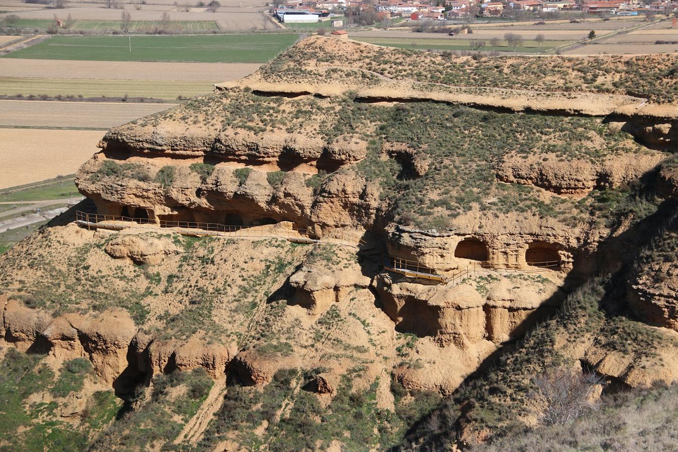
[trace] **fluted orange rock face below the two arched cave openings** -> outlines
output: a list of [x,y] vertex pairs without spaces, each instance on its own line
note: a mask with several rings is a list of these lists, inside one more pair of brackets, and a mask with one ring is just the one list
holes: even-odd
[[564,298],[551,282],[517,283],[502,276],[490,281],[485,296],[473,285],[480,282],[481,290],[487,289],[484,279],[422,286],[382,274],[376,289],[384,311],[399,330],[462,348],[481,340],[499,343],[519,337]]

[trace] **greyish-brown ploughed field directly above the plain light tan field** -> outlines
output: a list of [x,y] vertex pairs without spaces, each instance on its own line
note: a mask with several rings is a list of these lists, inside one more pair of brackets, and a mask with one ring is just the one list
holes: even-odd
[[0,100],[0,125],[108,129],[174,104]]

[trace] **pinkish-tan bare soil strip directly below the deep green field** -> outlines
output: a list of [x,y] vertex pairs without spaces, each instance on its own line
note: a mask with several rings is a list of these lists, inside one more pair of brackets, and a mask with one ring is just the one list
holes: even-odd
[[226,81],[241,79],[253,73],[259,66],[261,64],[257,63],[75,62],[5,58],[0,64],[0,77]]

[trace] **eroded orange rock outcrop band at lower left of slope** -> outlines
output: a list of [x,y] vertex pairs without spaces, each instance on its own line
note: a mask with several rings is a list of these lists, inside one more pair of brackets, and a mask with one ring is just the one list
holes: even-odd
[[47,353],[57,361],[87,358],[107,384],[132,373],[152,377],[155,373],[191,371],[202,367],[213,378],[222,377],[237,354],[235,344],[207,342],[199,335],[186,341],[154,340],[137,331],[125,310],[105,311],[98,316],[65,314],[51,317],[0,295],[3,307],[0,340],[24,352]]

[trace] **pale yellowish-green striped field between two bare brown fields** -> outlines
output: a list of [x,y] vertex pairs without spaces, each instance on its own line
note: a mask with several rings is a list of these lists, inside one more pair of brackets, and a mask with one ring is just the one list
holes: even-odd
[[0,77],[0,95],[4,96],[83,96],[85,98],[192,98],[214,89],[209,81],[82,80]]

